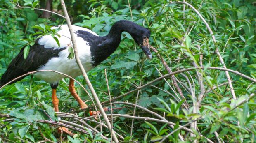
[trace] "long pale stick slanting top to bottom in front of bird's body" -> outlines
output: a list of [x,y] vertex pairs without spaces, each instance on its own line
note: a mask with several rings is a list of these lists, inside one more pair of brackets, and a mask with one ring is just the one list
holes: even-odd
[[103,116],[103,118],[104,118],[104,120],[105,120],[105,122],[106,122],[106,124],[107,124],[107,126],[109,128],[109,131],[111,131],[112,134],[113,134],[114,142],[118,143],[119,141],[118,141],[118,139],[116,137],[116,134],[113,133],[114,131],[111,128],[111,124],[109,122],[109,119],[107,118],[107,115],[106,115],[106,113],[105,113],[105,111],[104,111],[104,109],[103,109],[103,107],[102,107],[102,105],[100,103],[99,98],[97,97],[97,94],[96,94],[96,92],[95,92],[95,90],[94,90],[94,88],[92,86],[92,83],[90,82],[90,80],[89,80],[89,78],[88,78],[88,76],[87,76],[87,74],[85,72],[85,69],[83,68],[83,65],[82,65],[82,63],[81,63],[81,61],[79,59],[78,50],[77,50],[77,46],[76,46],[76,37],[75,37],[73,29],[72,29],[72,25],[71,25],[71,22],[70,22],[70,19],[69,19],[69,14],[68,14],[68,12],[66,10],[66,6],[65,6],[65,3],[64,3],[64,0],[59,0],[59,1],[60,1],[61,5],[62,5],[62,9],[63,9],[64,14],[65,14],[66,22],[68,24],[69,31],[70,31],[70,34],[71,34],[71,40],[72,40],[72,44],[73,44],[73,50],[74,50],[74,55],[75,55],[76,63],[78,65],[78,67],[80,68],[80,70],[81,70],[81,72],[83,74],[83,77],[84,77],[84,79],[85,79],[89,89],[92,92],[92,96],[94,97],[94,99],[96,100],[97,105],[99,106],[100,112],[101,112],[101,114],[102,114],[102,116]]

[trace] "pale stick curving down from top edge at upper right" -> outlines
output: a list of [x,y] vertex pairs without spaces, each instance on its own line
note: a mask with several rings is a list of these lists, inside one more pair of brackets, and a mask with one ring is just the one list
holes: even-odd
[[[206,28],[208,29],[208,31],[209,31],[210,34],[211,34],[211,37],[212,37],[212,39],[213,39],[214,44],[216,44],[216,39],[215,39],[215,36],[213,35],[213,31],[211,30],[209,24],[206,22],[206,20],[203,18],[203,16],[197,11],[197,9],[195,9],[192,5],[190,5],[190,4],[187,3],[187,2],[180,2],[180,1],[179,1],[179,2],[170,2],[170,4],[174,4],[174,3],[185,4],[185,5],[188,5],[190,8],[192,8],[192,9],[194,10],[194,12],[196,12],[197,15],[198,15],[198,16],[201,18],[201,20],[204,22],[204,24],[206,25]],[[216,52],[216,54],[218,55],[218,58],[220,59],[220,63],[222,64],[223,68],[224,68],[224,69],[227,69],[227,67],[226,67],[226,65],[225,65],[225,62],[224,62],[222,56],[220,55],[220,52],[219,52],[219,49],[218,49],[217,46],[216,46],[216,51],[215,51],[215,52]],[[231,79],[230,79],[230,75],[229,75],[228,71],[225,71],[225,74],[226,74],[227,79],[228,79],[228,84],[229,84],[229,86],[230,86],[230,91],[231,91],[231,94],[232,94],[232,96],[233,96],[233,99],[236,100],[237,97],[236,97],[236,95],[235,95],[235,91],[234,91],[234,89],[233,89],[232,81],[231,81]]]

